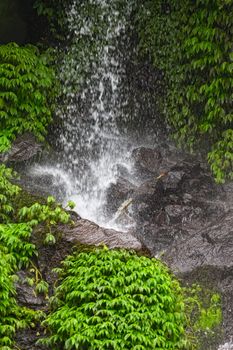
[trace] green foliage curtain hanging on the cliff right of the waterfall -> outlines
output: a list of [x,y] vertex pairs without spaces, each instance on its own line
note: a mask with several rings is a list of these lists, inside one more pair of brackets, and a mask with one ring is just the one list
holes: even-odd
[[232,1],[151,0],[137,16],[141,50],[165,73],[172,132],[191,150],[207,149],[218,182],[233,178],[232,10]]

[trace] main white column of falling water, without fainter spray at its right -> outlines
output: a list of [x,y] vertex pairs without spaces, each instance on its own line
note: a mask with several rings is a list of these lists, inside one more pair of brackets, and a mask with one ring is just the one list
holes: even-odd
[[118,165],[131,171],[132,142],[123,127],[130,121],[125,62],[131,11],[132,2],[126,0],[74,0],[68,9],[69,44],[59,67],[59,162],[33,169],[34,175],[55,174],[56,186],[59,181],[65,186],[77,212],[103,226],[111,219],[103,208]]

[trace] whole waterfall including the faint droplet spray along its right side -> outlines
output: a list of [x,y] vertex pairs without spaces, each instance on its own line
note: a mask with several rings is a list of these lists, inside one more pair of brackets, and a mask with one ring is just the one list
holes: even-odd
[[81,217],[120,230],[125,227],[109,217],[106,191],[119,169],[135,182],[132,149],[150,144],[151,135],[157,140],[161,128],[156,73],[137,62],[135,6],[133,0],[73,0],[67,9],[66,46],[58,49],[55,154],[31,169],[34,178],[50,179],[49,192],[59,200],[73,200]]

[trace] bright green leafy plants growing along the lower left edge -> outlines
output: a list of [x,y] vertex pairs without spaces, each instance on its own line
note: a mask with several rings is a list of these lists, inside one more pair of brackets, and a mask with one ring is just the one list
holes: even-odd
[[46,230],[50,231],[46,236],[47,243],[51,244],[55,243],[51,233],[55,225],[69,221],[69,215],[56,205],[53,197],[48,197],[47,204],[35,203],[30,208],[21,208],[18,213],[20,222],[11,223],[17,219],[15,202],[20,192],[20,188],[11,183],[15,176],[12,169],[0,165],[0,348],[8,350],[15,348],[16,331],[33,327],[43,317],[43,312],[17,304],[16,272],[28,268],[25,282],[34,287],[35,294],[48,298],[48,283],[32,262],[36,255],[36,247],[30,242],[32,229],[45,223]]

